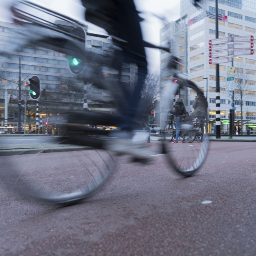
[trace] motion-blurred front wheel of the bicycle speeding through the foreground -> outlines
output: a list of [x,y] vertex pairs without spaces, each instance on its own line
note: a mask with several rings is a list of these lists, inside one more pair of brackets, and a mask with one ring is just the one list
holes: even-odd
[[[174,74],[173,77],[176,77],[176,74]],[[172,106],[174,98],[180,96],[180,98],[186,99],[186,95],[190,94],[191,90],[192,93],[199,92],[196,84],[183,78],[178,78],[175,83],[172,82],[172,84],[169,86],[165,86],[163,90],[166,90],[163,92],[163,95],[166,95],[166,97],[163,97],[161,102],[161,108],[163,112],[170,110],[170,106]],[[184,95],[182,95],[183,92]],[[186,110],[190,111],[192,106],[190,106],[188,102],[188,100],[184,100],[184,105]],[[208,152],[209,140],[208,134],[206,134],[202,142],[197,142],[195,140],[196,130],[190,126],[188,126],[188,128],[182,128],[181,132],[184,134],[192,134],[193,136],[190,140],[193,141],[189,140],[190,143],[181,143],[180,141],[178,141],[178,143],[163,142],[163,147],[164,152],[166,153],[167,161],[169,163],[168,166],[170,166],[170,170],[175,170],[176,173],[188,177],[195,174],[202,166],[202,163],[204,162]]]

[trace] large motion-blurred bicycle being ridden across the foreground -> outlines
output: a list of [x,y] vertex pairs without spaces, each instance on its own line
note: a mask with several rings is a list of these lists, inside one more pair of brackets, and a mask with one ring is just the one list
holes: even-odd
[[[60,20],[69,22],[72,26],[74,24],[78,27],[83,25],[74,19],[25,0],[21,0],[20,4],[36,8],[36,10],[44,13],[47,12],[58,17]],[[10,170],[8,182],[12,183],[12,188],[15,188],[20,193],[32,196],[36,200],[63,205],[75,204],[98,190],[114,169],[116,157],[106,144],[108,142],[113,144],[117,141],[120,142],[122,129],[121,131],[109,131],[92,127],[102,125],[120,127],[120,124],[125,123],[126,117],[122,116],[122,109],[126,101],[124,92],[120,88],[120,80],[107,80],[102,75],[99,67],[106,64],[114,65],[113,58],[118,56],[120,49],[115,49],[113,54],[107,56],[87,52],[82,47],[83,39],[78,34],[73,34],[66,27],[57,26],[54,22],[46,22],[46,20],[41,21],[38,17],[22,12],[19,8],[14,7],[12,10],[16,16],[28,21],[28,23],[22,24],[23,30],[26,29],[25,35],[28,33],[34,35],[34,38],[30,38],[24,44],[19,45],[18,49],[26,45],[39,49],[54,50],[60,53],[59,56],[68,54],[69,56],[79,58],[79,60],[86,64],[86,68],[83,74],[77,73],[76,76],[78,78],[82,76],[82,80],[96,80],[96,88],[104,90],[104,92],[111,96],[112,109],[115,109],[118,113],[113,115],[83,111],[79,108],[70,110],[67,108],[66,102],[57,101],[54,98],[54,95],[61,95],[63,93],[63,88],[60,86],[55,88],[54,91],[48,92],[47,97],[42,96],[40,98],[40,104],[47,106],[48,112],[51,113],[48,126],[52,125],[60,130],[60,135],[58,137],[49,137],[48,143],[51,143],[52,147],[56,144],[63,146],[69,144],[82,145],[86,147],[86,150],[44,153],[44,150],[34,148],[34,151],[30,154],[30,150],[25,148],[15,158],[12,156],[0,156],[2,165]],[[169,51],[169,48],[153,46],[151,44],[146,45]],[[18,50],[12,53],[18,54]],[[176,69],[177,64],[176,59],[172,57],[169,66]],[[178,78],[178,82],[170,80],[169,86],[163,88],[162,105],[160,107],[160,112],[162,113],[170,108],[172,104],[170,98],[174,98],[176,92],[180,91],[180,89],[199,90],[192,81],[184,79],[177,74],[174,74],[173,77]],[[68,96],[78,94],[81,90],[82,88],[79,85],[73,86],[70,88]],[[81,105],[81,102],[79,103],[78,106]],[[139,109],[143,110],[143,108]],[[138,114],[138,116],[143,116],[141,114]],[[134,123],[134,127],[138,126],[140,126],[140,122]],[[145,127],[145,130],[148,130],[148,128]],[[183,130],[184,134],[186,132],[189,134],[192,131],[191,127],[186,127]],[[208,138],[206,136],[201,143],[190,143],[190,146],[187,143],[178,143],[175,144],[175,148],[174,144],[165,143],[163,140],[160,140],[160,149],[166,154],[171,170],[174,169],[183,176],[191,176],[200,168],[206,157]],[[127,145],[126,152],[133,152],[134,150],[143,151],[145,146],[141,143]]]

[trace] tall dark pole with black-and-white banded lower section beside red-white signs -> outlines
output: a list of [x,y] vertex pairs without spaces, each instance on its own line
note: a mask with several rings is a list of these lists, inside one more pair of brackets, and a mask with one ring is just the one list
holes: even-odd
[[[219,38],[218,0],[215,0],[215,38]],[[216,64],[216,139],[220,138],[220,64]]]

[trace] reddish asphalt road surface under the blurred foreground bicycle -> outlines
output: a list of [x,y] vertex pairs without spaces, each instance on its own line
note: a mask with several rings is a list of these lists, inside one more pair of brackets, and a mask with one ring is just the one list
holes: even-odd
[[255,142],[211,142],[189,178],[161,154],[150,165],[123,156],[100,191],[64,208],[1,186],[0,255],[255,256],[255,152]]

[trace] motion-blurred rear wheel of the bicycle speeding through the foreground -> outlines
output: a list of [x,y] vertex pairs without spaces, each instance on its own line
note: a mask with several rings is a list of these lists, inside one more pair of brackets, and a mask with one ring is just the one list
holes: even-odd
[[[109,139],[107,131],[89,129],[89,126],[114,126],[106,118],[110,114],[98,113],[97,109],[103,105],[105,109],[116,110],[116,105],[112,92],[104,89],[106,81],[98,76],[98,70],[94,71],[96,65],[86,64],[84,72],[71,74],[68,62],[63,57],[68,54],[68,49],[62,52],[61,46],[57,45],[53,45],[51,49],[48,48],[50,40],[48,44],[45,42],[46,40],[42,40],[33,44],[40,47],[39,50],[34,49],[34,52],[53,52],[51,63],[62,65],[56,65],[62,70],[57,73],[58,76],[56,73],[54,77],[38,74],[42,83],[38,101],[39,114],[42,115],[43,122],[48,122],[47,130],[51,130],[54,136],[45,134],[44,125],[38,128],[41,136],[18,134],[15,137],[18,146],[12,146],[11,140],[1,140],[2,148],[11,149],[9,152],[0,152],[3,170],[1,175],[8,173],[8,177],[2,179],[3,182],[20,194],[48,203],[75,204],[100,188],[114,168],[113,155],[104,149],[104,141]],[[47,47],[41,49],[44,45]],[[31,45],[30,47],[32,48]],[[80,52],[80,59],[84,58],[82,53]],[[65,66],[63,62],[66,62]],[[87,82],[94,76],[97,86]],[[51,84],[48,78],[52,79]],[[83,108],[85,86],[91,94],[90,101],[87,101],[91,106],[90,111],[84,111]],[[116,85],[112,81],[112,88],[113,86]],[[113,90],[118,94],[117,88]],[[104,94],[103,100],[94,98],[99,93]],[[28,106],[29,111],[36,116],[36,101],[29,100]],[[29,125],[30,130],[36,133],[36,120],[32,120]]]

